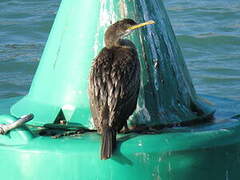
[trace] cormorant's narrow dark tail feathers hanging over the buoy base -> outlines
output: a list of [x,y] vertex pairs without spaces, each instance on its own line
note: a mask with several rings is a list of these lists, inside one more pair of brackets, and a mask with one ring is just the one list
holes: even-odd
[[116,145],[116,132],[113,128],[107,127],[102,133],[101,159],[106,160],[112,156]]

